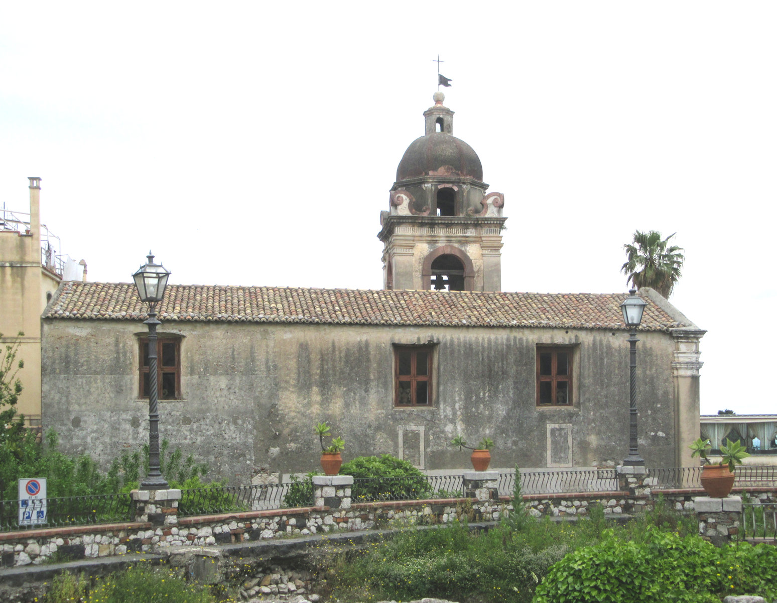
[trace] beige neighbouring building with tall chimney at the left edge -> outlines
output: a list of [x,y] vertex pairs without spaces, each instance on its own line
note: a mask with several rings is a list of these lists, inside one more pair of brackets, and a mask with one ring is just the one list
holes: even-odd
[[81,279],[85,263],[63,258],[59,238],[40,223],[40,178],[30,177],[30,212],[0,209],[0,345],[23,331],[17,377],[24,391],[17,409],[33,427],[40,426],[40,315],[68,277]]

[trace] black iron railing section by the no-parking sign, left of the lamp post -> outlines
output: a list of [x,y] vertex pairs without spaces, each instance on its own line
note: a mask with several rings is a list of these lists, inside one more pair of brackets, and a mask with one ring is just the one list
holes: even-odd
[[[0,500],[0,531],[111,524],[133,520],[129,494],[49,498],[45,501],[45,507],[43,501],[21,502],[23,507],[19,507],[19,500]],[[37,523],[41,520],[42,523]],[[36,523],[28,524],[28,521]]]

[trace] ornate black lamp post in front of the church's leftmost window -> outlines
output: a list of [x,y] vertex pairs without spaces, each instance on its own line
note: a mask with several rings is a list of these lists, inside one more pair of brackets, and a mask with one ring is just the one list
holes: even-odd
[[162,472],[159,471],[159,412],[157,408],[156,370],[156,327],[162,324],[156,320],[156,304],[165,295],[170,273],[161,264],[154,263],[151,251],[146,256],[148,263],[132,275],[141,302],[148,303],[148,477],[141,482],[141,490],[166,490],[168,488]]

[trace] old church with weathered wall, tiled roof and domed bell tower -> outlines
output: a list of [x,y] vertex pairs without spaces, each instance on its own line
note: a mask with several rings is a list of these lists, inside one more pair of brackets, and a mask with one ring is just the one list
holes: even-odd
[[[168,286],[160,433],[211,475],[315,469],[323,420],[345,460],[393,454],[425,470],[469,465],[457,434],[491,438],[493,468],[628,454],[627,294],[501,290],[504,198],[443,103],[435,93],[380,214],[383,289]],[[652,468],[689,466],[705,331],[639,295],[639,452]],[[148,442],[146,310],[129,283],[76,281],[44,310],[44,427],[68,451],[107,462]]]

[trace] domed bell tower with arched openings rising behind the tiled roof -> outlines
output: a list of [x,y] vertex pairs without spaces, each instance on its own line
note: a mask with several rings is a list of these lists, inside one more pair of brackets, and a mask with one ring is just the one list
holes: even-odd
[[454,112],[434,93],[425,134],[399,162],[381,212],[383,287],[501,291],[504,195],[486,193],[477,153],[453,135]]

